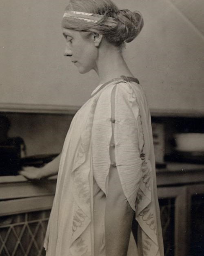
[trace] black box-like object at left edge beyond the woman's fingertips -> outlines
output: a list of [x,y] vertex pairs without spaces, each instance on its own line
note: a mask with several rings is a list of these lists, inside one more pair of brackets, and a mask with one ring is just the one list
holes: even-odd
[[0,146],[0,176],[18,175],[19,150],[16,146]]

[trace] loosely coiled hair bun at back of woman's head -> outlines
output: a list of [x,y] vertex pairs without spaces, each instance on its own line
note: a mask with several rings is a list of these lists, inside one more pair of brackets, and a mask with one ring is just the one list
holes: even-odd
[[119,10],[115,13],[118,22],[118,34],[121,35],[124,42],[129,43],[140,34],[144,21],[142,15],[138,11],[130,11],[128,9]]

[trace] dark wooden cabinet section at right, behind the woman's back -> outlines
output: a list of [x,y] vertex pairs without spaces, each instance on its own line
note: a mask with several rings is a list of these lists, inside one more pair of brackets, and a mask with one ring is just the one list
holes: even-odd
[[[170,173],[166,178],[168,176],[169,184],[157,188],[165,256],[203,256],[203,171],[192,171],[182,175]],[[182,176],[186,177],[182,179],[183,184],[179,184]],[[175,183],[174,180],[177,182]],[[197,184],[195,180],[202,182]],[[160,182],[160,179],[158,181]]]

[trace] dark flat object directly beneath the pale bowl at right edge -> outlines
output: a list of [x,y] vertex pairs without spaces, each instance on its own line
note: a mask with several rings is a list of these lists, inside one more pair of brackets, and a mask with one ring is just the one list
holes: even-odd
[[175,151],[164,156],[166,162],[182,162],[192,164],[204,164],[204,152],[202,151]]

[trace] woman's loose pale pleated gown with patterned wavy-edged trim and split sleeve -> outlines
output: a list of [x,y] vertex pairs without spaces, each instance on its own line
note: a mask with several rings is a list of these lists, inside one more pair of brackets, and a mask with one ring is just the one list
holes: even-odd
[[[114,87],[115,120],[111,113]],[[137,79],[121,76],[98,86],[71,122],[44,241],[47,256],[105,256],[104,219],[95,234],[93,209],[95,194],[108,192],[113,121],[115,165],[139,224],[137,247],[128,255],[164,255],[150,112]],[[104,202],[103,197],[101,207]],[[95,235],[102,241],[97,255]],[[133,243],[131,236],[130,247]]]

